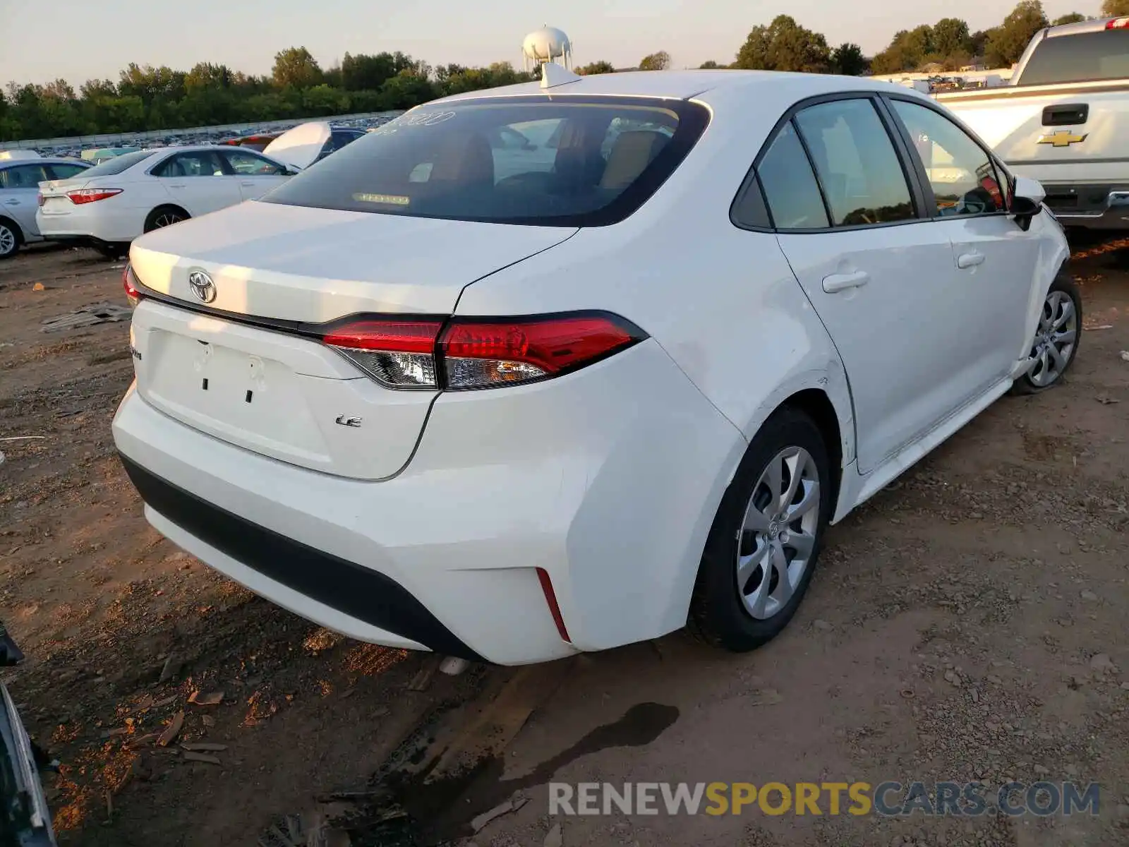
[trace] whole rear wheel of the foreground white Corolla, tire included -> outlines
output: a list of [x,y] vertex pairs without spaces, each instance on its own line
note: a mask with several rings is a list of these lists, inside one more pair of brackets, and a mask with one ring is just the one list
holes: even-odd
[[702,555],[691,627],[735,652],[774,638],[799,606],[831,512],[831,469],[815,422],[781,409],[729,484]]

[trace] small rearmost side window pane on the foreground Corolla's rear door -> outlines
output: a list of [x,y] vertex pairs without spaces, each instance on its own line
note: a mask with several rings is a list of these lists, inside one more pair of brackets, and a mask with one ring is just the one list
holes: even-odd
[[[828,212],[812,163],[791,122],[785,124],[761,159],[756,173],[777,229],[822,229]],[[750,192],[756,186],[750,186]]]

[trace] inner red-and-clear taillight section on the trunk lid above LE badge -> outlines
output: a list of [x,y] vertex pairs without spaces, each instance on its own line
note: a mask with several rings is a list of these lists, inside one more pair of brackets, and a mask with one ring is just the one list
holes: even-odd
[[435,388],[439,321],[355,321],[322,340],[390,388]]

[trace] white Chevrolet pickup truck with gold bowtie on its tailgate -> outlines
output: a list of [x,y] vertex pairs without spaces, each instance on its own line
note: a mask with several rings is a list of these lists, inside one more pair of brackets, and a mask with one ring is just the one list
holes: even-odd
[[1042,29],[1010,81],[936,95],[1066,226],[1129,229],[1129,18]]

